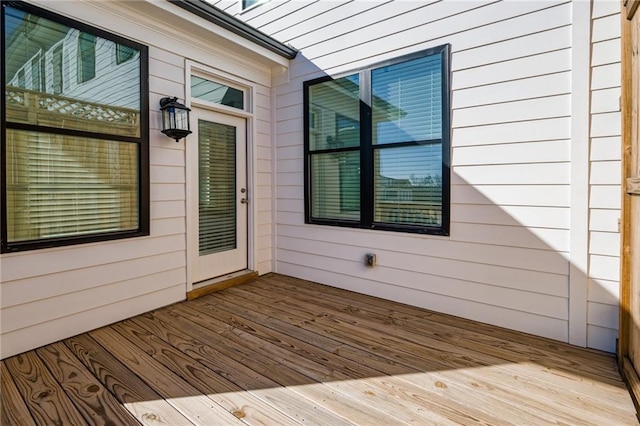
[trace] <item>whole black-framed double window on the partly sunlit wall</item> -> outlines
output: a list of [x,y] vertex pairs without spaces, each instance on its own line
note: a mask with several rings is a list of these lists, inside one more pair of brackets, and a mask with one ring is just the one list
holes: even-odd
[[449,51],[304,83],[307,223],[448,235]]

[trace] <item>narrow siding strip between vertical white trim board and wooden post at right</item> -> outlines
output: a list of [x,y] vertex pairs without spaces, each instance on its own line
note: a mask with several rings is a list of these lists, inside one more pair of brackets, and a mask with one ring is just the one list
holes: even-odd
[[620,269],[620,13],[596,0],[592,16],[589,200],[589,346],[615,351]]

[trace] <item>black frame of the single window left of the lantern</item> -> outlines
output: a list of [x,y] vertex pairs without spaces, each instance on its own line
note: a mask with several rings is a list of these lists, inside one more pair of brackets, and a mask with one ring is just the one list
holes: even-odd
[[[3,102],[0,107],[0,253],[13,253],[29,250],[39,250],[52,247],[64,247],[78,244],[95,243],[101,241],[119,240],[125,238],[142,237],[150,234],[150,164],[149,164],[149,50],[146,45],[133,40],[121,37],[116,34],[101,30],[89,24],[68,18],[55,12],[31,5],[22,1],[2,1],[0,9],[0,44],[2,45],[2,61],[0,62],[0,74],[2,75],[1,90]],[[64,129],[48,127],[42,125],[12,123],[7,121],[7,108],[4,96],[6,96],[6,34],[5,34],[5,7],[19,9],[25,13],[34,14],[51,21],[77,29],[81,32],[88,32],[95,36],[113,41],[118,44],[130,46],[140,51],[140,135],[139,137],[120,136],[117,134],[94,133],[90,131]],[[34,131],[53,135],[63,135],[72,137],[86,137],[105,141],[116,141],[122,143],[135,143],[138,146],[138,227],[132,230],[101,232],[92,234],[81,234],[75,236],[43,238],[27,241],[8,241],[8,213],[7,213],[7,153],[6,135],[7,129]]]

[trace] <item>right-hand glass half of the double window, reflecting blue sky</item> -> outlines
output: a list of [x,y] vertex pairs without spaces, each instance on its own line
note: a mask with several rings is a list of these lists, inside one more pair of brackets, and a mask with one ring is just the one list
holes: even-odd
[[374,221],[441,226],[442,56],[374,69],[371,88]]

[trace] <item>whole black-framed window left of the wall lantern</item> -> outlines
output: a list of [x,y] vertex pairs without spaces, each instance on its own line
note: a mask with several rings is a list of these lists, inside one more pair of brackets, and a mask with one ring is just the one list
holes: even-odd
[[2,28],[2,252],[148,235],[147,48],[21,2]]

